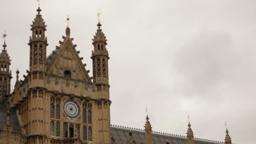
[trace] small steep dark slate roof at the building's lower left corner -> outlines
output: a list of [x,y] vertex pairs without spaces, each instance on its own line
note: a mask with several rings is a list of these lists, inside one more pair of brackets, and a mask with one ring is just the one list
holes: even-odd
[[[9,109],[10,113],[10,124],[13,125],[13,132],[21,132],[19,119],[14,108]],[[7,120],[7,109],[0,107],[0,130],[3,130]]]

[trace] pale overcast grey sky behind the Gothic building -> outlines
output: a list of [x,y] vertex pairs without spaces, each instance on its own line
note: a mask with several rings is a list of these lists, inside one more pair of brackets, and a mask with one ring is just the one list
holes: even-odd
[[[0,0],[12,84],[29,69],[30,24],[36,0]],[[59,45],[70,16],[71,37],[90,59],[101,11],[108,39],[111,123],[195,137],[255,144],[255,0],[41,0],[47,53]],[[3,39],[1,40],[3,43]],[[92,73],[89,73],[92,76]],[[22,78],[23,79],[23,78]]]

